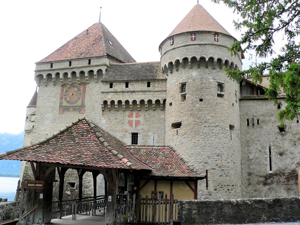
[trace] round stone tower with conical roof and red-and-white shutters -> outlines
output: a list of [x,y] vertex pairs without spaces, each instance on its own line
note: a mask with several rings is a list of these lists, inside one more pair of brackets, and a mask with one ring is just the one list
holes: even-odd
[[165,144],[208,175],[198,182],[198,199],[241,198],[239,84],[222,70],[241,70],[243,56],[227,50],[235,40],[197,4],[159,46]]

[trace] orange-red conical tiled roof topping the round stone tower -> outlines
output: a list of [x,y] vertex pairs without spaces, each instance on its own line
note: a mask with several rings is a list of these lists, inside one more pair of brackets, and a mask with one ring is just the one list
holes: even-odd
[[232,37],[200,4],[196,4],[168,36],[192,31],[213,31]]

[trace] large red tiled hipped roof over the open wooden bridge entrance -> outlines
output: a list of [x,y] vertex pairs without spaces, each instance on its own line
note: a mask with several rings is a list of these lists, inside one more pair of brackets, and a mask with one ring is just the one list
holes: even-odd
[[0,154],[1,159],[122,169],[150,167],[116,137],[83,117],[36,144]]

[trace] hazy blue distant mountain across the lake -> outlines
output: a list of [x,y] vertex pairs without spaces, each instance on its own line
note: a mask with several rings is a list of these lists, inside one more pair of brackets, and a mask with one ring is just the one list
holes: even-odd
[[[24,131],[20,134],[0,134],[0,153],[23,147]],[[20,176],[21,161],[0,160],[0,176]]]

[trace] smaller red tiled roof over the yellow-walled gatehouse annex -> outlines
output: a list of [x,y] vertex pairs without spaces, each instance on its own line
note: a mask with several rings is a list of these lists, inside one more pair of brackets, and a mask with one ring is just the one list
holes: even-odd
[[137,159],[152,168],[152,171],[145,172],[144,176],[204,178],[170,146],[126,146],[126,148]]

